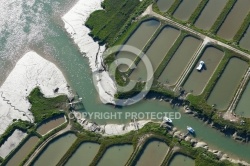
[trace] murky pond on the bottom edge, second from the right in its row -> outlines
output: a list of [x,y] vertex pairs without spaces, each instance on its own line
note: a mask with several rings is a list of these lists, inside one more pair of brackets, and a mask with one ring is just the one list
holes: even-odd
[[151,140],[142,152],[136,166],[160,165],[168,152],[168,145],[158,140]]

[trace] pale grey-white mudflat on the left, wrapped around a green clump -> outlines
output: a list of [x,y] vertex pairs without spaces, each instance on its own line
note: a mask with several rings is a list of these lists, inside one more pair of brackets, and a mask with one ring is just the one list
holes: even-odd
[[[47,97],[70,95],[66,79],[57,66],[35,52],[28,52],[17,62],[0,87],[0,134],[13,119],[34,121],[27,96],[37,86]],[[58,93],[54,93],[56,88],[59,88]]]

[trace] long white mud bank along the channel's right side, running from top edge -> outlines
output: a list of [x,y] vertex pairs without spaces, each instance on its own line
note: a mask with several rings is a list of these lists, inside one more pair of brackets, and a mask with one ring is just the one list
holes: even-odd
[[101,101],[103,103],[114,103],[116,86],[108,72],[103,71],[102,67],[102,54],[105,51],[105,46],[99,46],[99,44],[88,35],[90,29],[85,26],[85,22],[91,13],[96,10],[102,10],[101,2],[102,0],[79,0],[76,5],[62,17],[62,20],[65,23],[66,31],[78,45],[83,56],[89,60],[95,86],[99,92]]

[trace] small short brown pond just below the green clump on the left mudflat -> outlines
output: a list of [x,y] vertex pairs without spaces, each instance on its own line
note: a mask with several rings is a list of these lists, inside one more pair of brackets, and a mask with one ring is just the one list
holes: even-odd
[[59,125],[63,124],[65,122],[64,117],[52,119],[50,121],[44,122],[41,126],[37,128],[37,132],[41,135],[46,134],[48,131],[58,127]]

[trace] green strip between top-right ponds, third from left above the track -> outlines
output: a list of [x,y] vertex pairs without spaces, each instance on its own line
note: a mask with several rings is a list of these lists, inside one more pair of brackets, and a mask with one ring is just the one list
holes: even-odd
[[215,21],[214,25],[212,26],[212,28],[210,30],[212,33],[216,34],[218,32],[219,28],[221,27],[221,25],[225,21],[227,15],[232,10],[232,8],[236,2],[237,2],[237,0],[229,0],[227,2],[223,11],[221,12],[221,14],[219,15],[219,17],[217,18],[217,20]]

